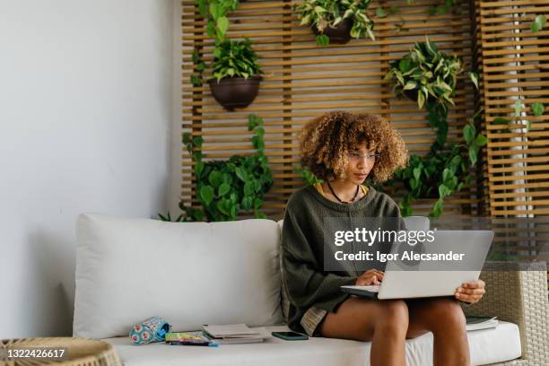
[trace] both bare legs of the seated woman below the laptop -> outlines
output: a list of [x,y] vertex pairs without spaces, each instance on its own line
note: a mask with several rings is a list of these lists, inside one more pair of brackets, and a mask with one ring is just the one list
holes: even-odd
[[404,365],[405,339],[430,331],[435,366],[470,364],[465,316],[452,298],[373,301],[352,297],[335,313],[328,313],[320,325],[322,336],[373,341],[372,366]]

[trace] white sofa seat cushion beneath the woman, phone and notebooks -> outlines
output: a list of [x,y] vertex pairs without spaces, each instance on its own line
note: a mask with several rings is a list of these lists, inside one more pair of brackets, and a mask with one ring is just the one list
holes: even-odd
[[[288,330],[287,327],[267,327],[270,331]],[[520,356],[518,327],[507,322],[493,329],[467,332],[471,350],[471,364],[481,365],[508,361]],[[110,338],[126,366],[182,364],[243,365],[243,366],[341,366],[370,364],[371,342],[342,339],[309,338],[307,341],[284,341],[268,338],[261,344],[221,344],[219,347],[184,345],[129,344],[129,338]],[[432,364],[432,334],[406,341],[406,365]]]

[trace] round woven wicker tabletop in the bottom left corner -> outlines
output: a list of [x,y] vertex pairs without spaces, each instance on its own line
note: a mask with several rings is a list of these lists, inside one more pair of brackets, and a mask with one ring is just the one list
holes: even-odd
[[[61,359],[7,358],[8,350],[60,349],[66,353]],[[56,366],[122,366],[118,353],[111,344],[93,339],[55,337],[8,339],[0,343],[0,366],[30,366],[52,364]]]

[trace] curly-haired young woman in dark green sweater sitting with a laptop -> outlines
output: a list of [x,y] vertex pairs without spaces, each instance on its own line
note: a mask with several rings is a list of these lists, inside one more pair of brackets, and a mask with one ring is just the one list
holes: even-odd
[[[463,283],[455,297],[372,300],[340,291],[344,284],[378,284],[379,266],[364,273],[324,271],[324,217],[400,217],[398,205],[373,187],[405,167],[405,143],[373,115],[326,113],[303,127],[301,165],[323,183],[304,187],[288,200],[283,221],[283,285],[289,327],[310,336],[372,341],[372,365],[404,365],[405,339],[434,335],[435,365],[468,365],[465,316],[458,301],[484,294],[482,280]],[[436,273],[433,273],[436,275]]]

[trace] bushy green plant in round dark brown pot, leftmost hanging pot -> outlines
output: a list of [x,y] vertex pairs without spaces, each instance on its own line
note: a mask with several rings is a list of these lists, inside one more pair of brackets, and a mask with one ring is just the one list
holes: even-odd
[[245,108],[256,99],[261,67],[249,39],[224,40],[213,50],[213,98],[227,110]]

